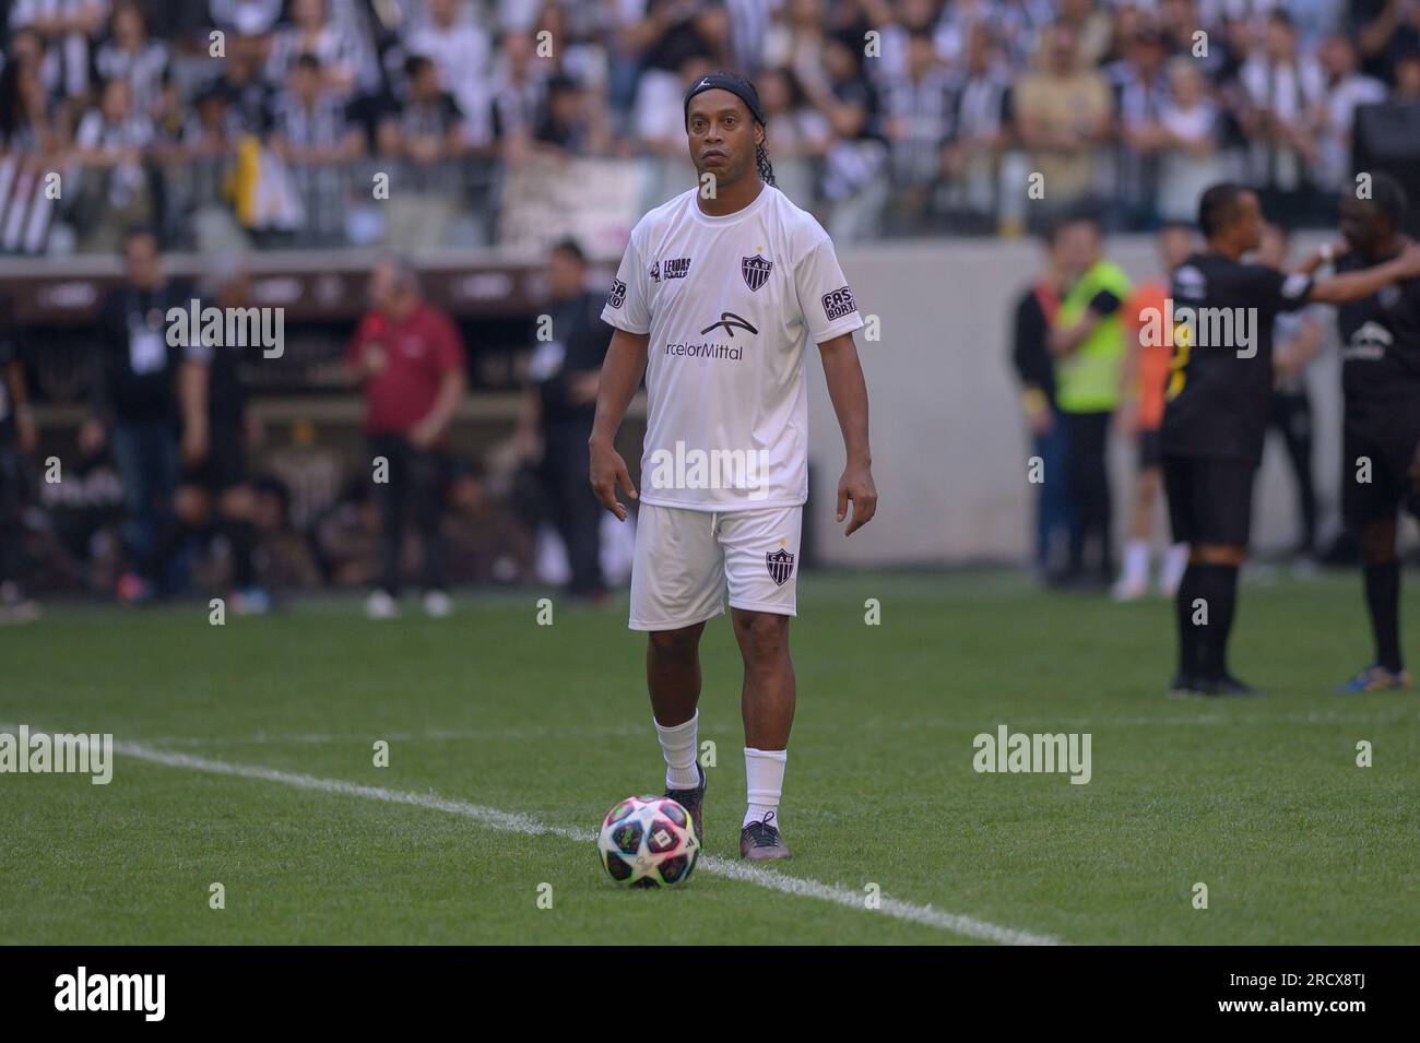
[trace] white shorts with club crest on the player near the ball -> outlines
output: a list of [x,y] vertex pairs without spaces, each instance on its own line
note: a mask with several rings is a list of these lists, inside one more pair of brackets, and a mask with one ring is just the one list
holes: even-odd
[[630,629],[679,630],[731,609],[797,614],[804,507],[687,511],[642,504]]

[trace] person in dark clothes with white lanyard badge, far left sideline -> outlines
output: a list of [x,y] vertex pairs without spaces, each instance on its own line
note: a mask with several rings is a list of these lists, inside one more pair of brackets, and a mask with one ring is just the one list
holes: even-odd
[[199,389],[204,373],[200,346],[169,343],[168,309],[186,315],[192,291],[163,277],[158,237],[136,227],[124,236],[124,284],[99,305],[91,370],[92,416],[80,430],[80,448],[114,447],[124,482],[122,526],[128,572],[118,582],[124,602],[149,600],[168,583],[176,526],[178,421],[204,426]]

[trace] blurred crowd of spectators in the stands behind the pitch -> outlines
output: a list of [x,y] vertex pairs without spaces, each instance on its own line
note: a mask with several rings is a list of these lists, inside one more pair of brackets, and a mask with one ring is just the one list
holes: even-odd
[[1416,0],[13,0],[0,34],[3,253],[487,244],[538,155],[683,163],[716,67],[836,240],[1152,228],[1224,177],[1319,223],[1356,108],[1420,105]]

